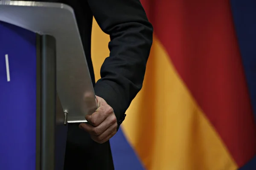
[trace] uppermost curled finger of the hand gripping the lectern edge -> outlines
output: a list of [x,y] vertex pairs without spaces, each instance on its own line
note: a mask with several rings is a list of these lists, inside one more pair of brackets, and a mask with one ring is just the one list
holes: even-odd
[[85,119],[90,125],[98,126],[105,121],[111,113],[113,113],[113,109],[109,105],[101,105],[92,115],[86,115]]

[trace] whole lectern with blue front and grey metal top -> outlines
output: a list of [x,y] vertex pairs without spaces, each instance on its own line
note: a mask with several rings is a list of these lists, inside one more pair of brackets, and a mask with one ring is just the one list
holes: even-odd
[[67,123],[95,110],[73,9],[0,1],[0,170],[63,170]]

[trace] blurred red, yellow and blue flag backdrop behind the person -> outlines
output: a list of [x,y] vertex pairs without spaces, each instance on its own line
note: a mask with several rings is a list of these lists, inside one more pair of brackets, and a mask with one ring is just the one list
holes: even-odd
[[[256,0],[141,3],[154,42],[116,170],[256,170]],[[109,40],[94,20],[96,80]]]

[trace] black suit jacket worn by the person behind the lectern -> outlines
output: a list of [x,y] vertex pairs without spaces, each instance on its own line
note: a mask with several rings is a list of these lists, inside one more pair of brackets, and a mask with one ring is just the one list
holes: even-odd
[[[110,105],[118,125],[142,88],[153,28],[140,0],[41,0],[70,5],[76,14],[81,40],[94,90]],[[102,31],[109,34],[110,56],[105,59],[95,83],[91,60],[93,16]],[[99,47],[101,48],[101,47]],[[65,169],[113,169],[109,142],[97,144],[78,125],[69,125]]]

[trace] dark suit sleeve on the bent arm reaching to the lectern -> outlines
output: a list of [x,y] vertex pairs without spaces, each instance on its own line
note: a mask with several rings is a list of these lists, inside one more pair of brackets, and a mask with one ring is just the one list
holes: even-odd
[[110,105],[118,121],[142,88],[153,28],[140,0],[87,0],[102,31],[110,35],[110,57],[102,65],[97,96]]

